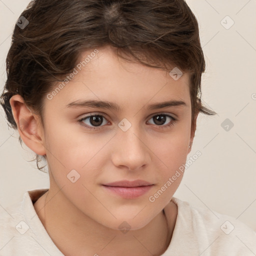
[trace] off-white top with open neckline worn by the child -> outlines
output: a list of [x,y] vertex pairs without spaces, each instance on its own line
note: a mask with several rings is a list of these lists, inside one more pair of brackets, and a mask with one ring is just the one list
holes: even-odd
[[[33,202],[47,189],[26,191],[23,200],[0,207],[0,256],[63,256],[51,240]],[[239,220],[209,209],[193,207],[172,197],[178,213],[172,238],[162,256],[253,256],[256,232]],[[170,205],[164,207],[170,217]]]

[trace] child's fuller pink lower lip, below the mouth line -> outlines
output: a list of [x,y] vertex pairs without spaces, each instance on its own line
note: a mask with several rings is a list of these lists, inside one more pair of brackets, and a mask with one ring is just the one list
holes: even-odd
[[120,195],[123,198],[136,198],[145,194],[153,185],[136,186],[136,187],[123,187],[123,186],[105,186],[107,190]]

